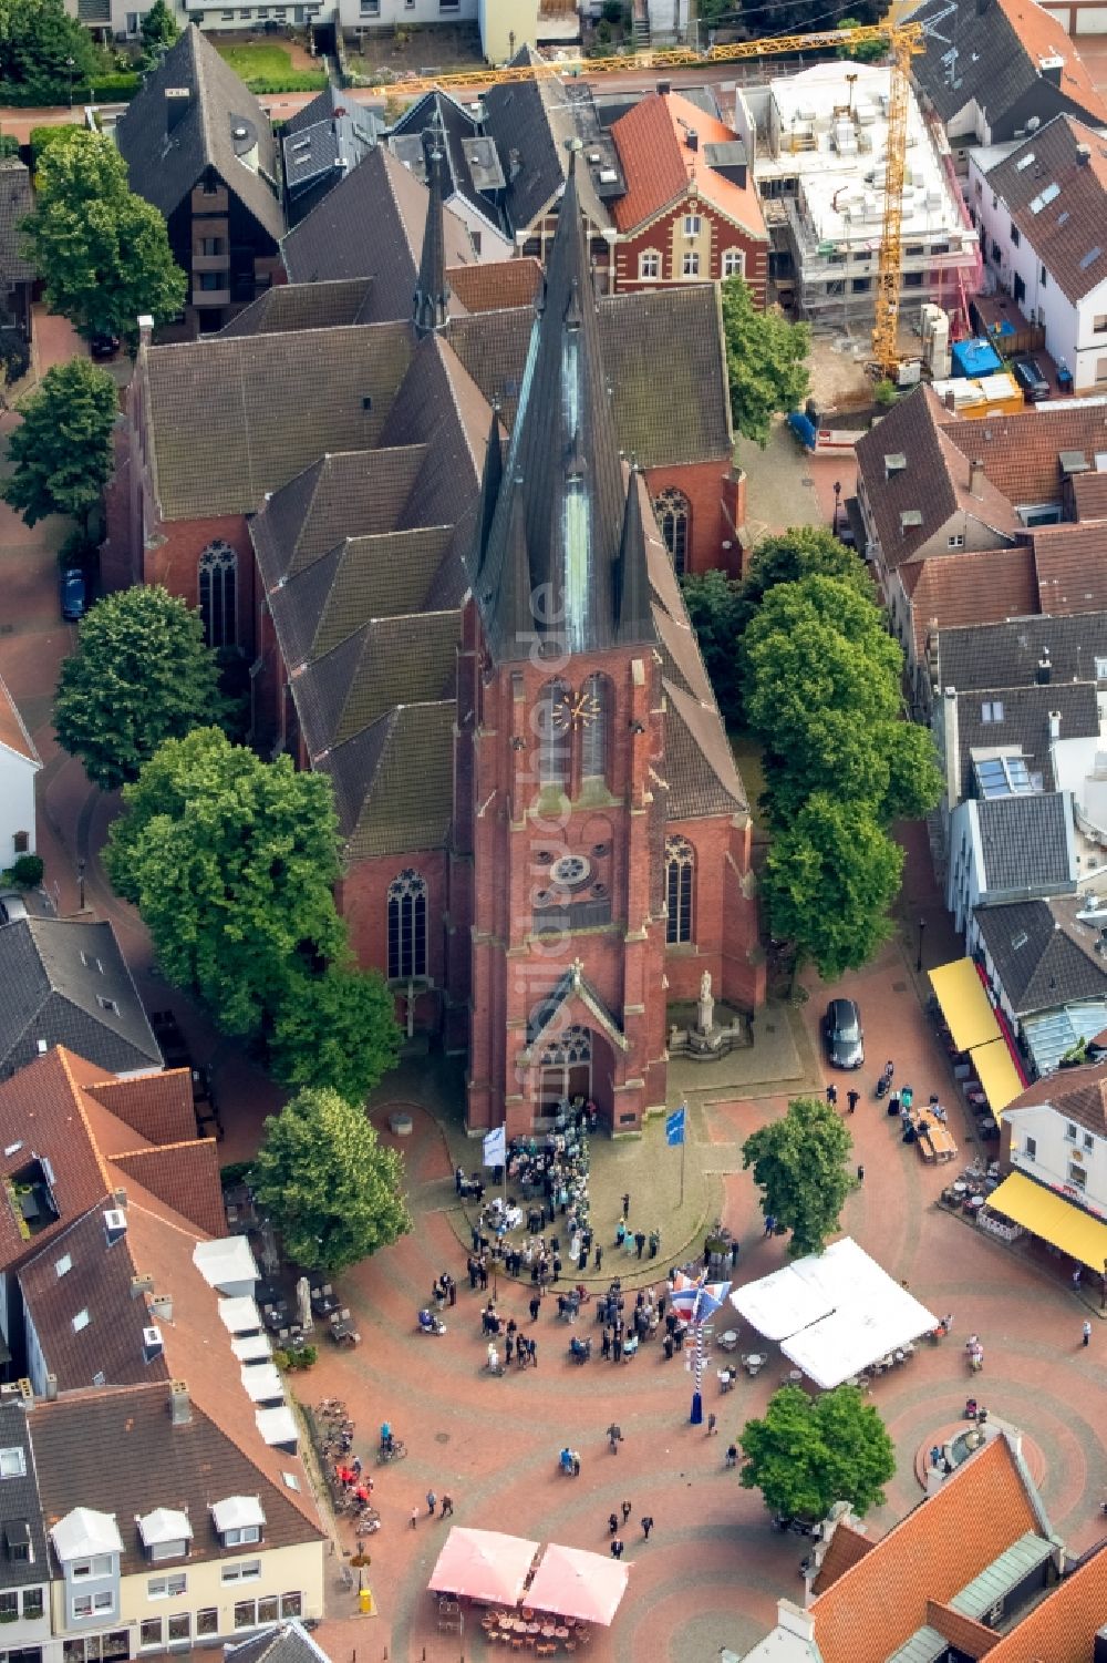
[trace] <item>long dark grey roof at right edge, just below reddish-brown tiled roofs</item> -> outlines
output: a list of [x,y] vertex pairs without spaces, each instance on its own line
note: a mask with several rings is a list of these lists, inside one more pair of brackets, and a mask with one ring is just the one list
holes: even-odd
[[1029,687],[1044,654],[1054,685],[1095,680],[1095,660],[1107,660],[1107,612],[944,629],[937,635],[934,685],[956,687],[959,693]]

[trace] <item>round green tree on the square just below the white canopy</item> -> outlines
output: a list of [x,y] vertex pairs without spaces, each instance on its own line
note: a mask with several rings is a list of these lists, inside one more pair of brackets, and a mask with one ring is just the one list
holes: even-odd
[[740,1482],[788,1518],[826,1518],[834,1502],[859,1515],[884,1500],[896,1472],[893,1440],[879,1414],[853,1385],[808,1397],[798,1385],[773,1392],[763,1419],[738,1434]]

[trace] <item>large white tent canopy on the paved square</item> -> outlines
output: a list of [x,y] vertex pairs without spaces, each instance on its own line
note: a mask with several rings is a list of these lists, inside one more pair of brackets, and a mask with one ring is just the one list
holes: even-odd
[[937,1327],[937,1317],[849,1236],[730,1297],[823,1390]]

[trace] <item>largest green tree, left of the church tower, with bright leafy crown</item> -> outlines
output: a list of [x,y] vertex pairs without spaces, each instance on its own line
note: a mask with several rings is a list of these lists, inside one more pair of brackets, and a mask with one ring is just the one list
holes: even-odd
[[194,728],[155,752],[123,803],[108,876],[141,911],[166,978],[194,988],[224,1033],[264,1028],[289,975],[341,958],[326,775]]

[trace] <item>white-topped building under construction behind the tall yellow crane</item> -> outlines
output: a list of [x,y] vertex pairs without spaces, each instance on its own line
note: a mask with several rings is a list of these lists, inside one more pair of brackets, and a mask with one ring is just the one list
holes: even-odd
[[[755,178],[773,239],[778,293],[814,324],[871,324],[884,218],[891,68],[821,63],[748,96]],[[751,121],[753,125],[753,121]],[[899,318],[962,308],[979,246],[949,156],[909,98]]]

